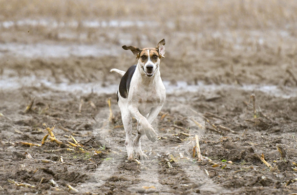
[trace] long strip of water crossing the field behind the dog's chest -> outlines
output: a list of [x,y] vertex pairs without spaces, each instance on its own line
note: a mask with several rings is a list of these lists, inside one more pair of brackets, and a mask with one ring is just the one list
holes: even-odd
[[[88,94],[92,91],[97,94],[115,94],[118,90],[118,84],[108,84],[105,83],[104,86],[101,82],[89,82],[89,83],[54,83],[46,79],[40,79],[36,76],[25,76],[25,77],[7,77],[5,75],[0,77],[0,89],[1,90],[17,90],[23,87],[34,86],[40,87],[45,86],[56,91],[71,92],[71,93],[81,93]],[[169,81],[163,82],[166,88],[166,94],[180,94],[180,93],[216,93],[221,90],[241,90],[247,91],[249,93],[264,92],[271,96],[281,97],[281,98],[291,98],[297,97],[297,88],[290,88],[287,86],[277,86],[277,85],[231,85],[231,84],[204,84],[199,82],[198,85],[188,85],[184,81],[178,81],[175,85],[171,84]]]

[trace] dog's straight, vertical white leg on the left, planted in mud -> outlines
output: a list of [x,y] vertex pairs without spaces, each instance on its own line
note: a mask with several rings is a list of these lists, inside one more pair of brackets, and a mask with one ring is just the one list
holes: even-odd
[[128,153],[128,160],[133,159],[133,139],[132,139],[132,116],[127,109],[121,110],[122,121],[126,132],[125,146]]

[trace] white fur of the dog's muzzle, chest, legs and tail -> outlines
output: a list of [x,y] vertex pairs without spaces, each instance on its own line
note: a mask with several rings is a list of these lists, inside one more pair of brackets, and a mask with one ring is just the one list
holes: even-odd
[[[150,54],[150,51],[148,50]],[[150,56],[150,55],[149,55]],[[147,64],[153,64],[154,75],[147,77],[143,67]],[[133,148],[136,157],[139,159],[147,156],[141,149],[140,138],[145,134],[151,141],[157,141],[157,134],[151,125],[153,120],[158,116],[165,101],[165,86],[162,82],[159,71],[160,59],[153,63],[149,59],[145,64],[138,60],[137,67],[132,76],[128,98],[123,98],[119,94],[119,107],[121,110],[122,121],[126,132],[126,150],[128,160],[133,159]],[[112,69],[111,72],[122,74],[124,71]],[[132,139],[132,118],[138,122],[137,136]]]

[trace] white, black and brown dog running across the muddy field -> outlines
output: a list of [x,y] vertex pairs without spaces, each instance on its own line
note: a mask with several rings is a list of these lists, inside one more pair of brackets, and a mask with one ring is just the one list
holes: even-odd
[[[122,75],[117,101],[126,133],[125,146],[128,160],[148,159],[141,149],[140,138],[145,134],[152,142],[157,141],[157,133],[151,125],[158,116],[165,102],[165,86],[160,75],[160,60],[165,54],[165,39],[156,48],[139,49],[134,46],[122,46],[131,50],[138,63],[124,72],[112,69]],[[138,122],[137,135],[132,138],[132,118]],[[134,150],[133,150],[134,149]],[[135,151],[135,153],[134,153]]]

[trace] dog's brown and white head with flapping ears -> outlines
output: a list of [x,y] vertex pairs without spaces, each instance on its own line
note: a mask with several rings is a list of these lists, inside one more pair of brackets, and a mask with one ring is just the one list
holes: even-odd
[[165,39],[161,40],[156,48],[139,49],[134,46],[123,46],[124,50],[131,50],[138,59],[138,66],[141,69],[141,74],[147,77],[154,76],[156,70],[159,68],[160,59],[165,54]]

